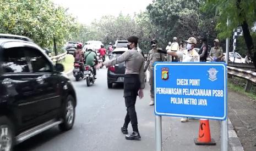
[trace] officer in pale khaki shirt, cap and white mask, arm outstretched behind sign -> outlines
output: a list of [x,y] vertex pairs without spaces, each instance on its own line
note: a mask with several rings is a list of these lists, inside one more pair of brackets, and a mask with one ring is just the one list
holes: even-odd
[[[168,50],[167,54],[171,56],[175,56],[178,58],[182,58],[182,62],[199,62],[200,61],[200,56],[195,51],[195,44],[197,44],[197,40],[194,37],[188,38],[186,40],[187,42],[187,49],[183,50],[183,53],[181,51],[171,51]],[[161,52],[161,51],[160,51]],[[188,118],[182,118],[181,122],[187,122]]]

